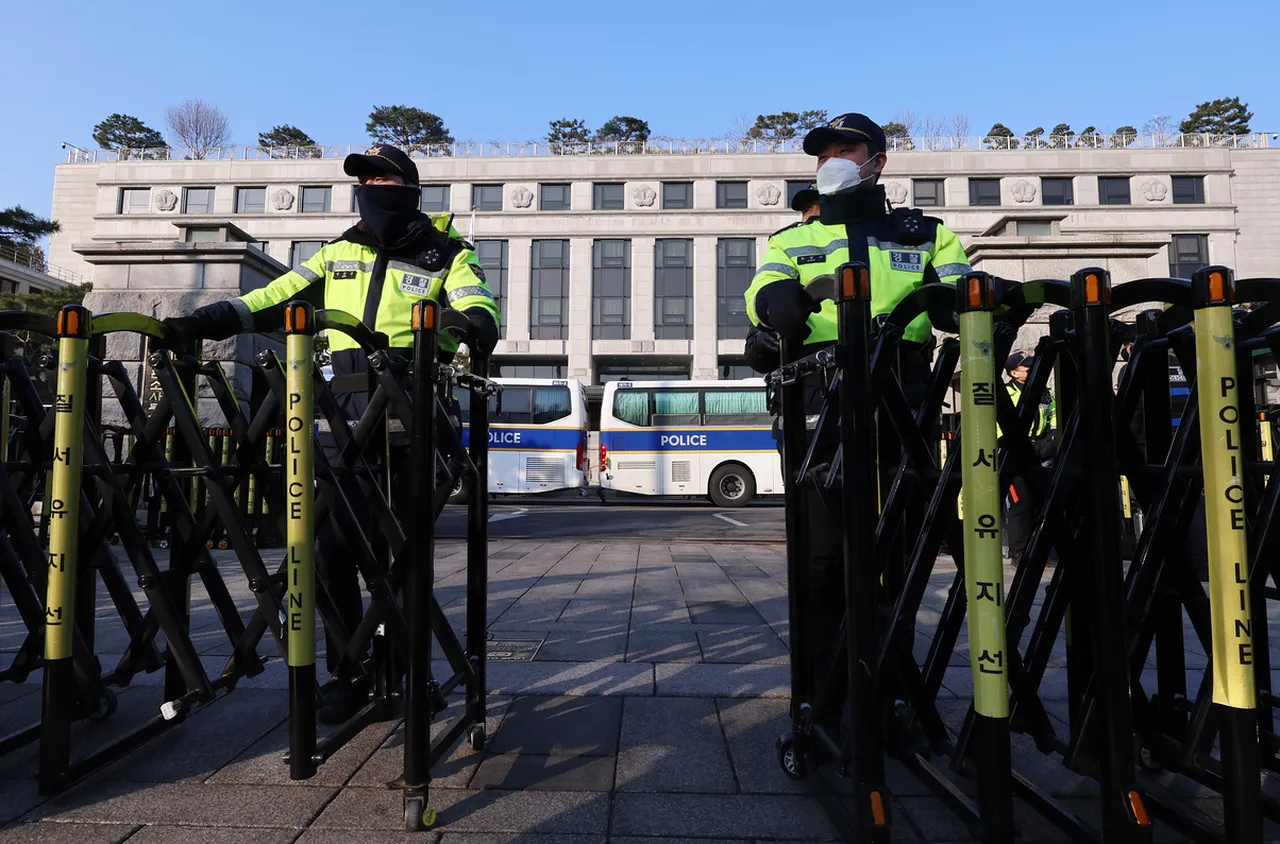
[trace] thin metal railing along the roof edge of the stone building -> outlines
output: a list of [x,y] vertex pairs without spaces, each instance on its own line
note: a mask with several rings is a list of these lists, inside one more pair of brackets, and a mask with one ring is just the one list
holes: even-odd
[[[1009,151],[1009,150],[1170,150],[1170,149],[1280,149],[1280,136],[1270,132],[1249,134],[1039,134],[1039,136],[934,136],[891,137],[891,152],[922,151]],[[549,158],[556,155],[759,155],[803,154],[803,136],[765,138],[650,138],[648,141],[590,141],[549,143],[518,141],[448,145],[406,145],[413,158]],[[183,161],[183,160],[288,160],[340,159],[364,152],[367,143],[337,146],[227,146],[192,151],[186,147],[146,150],[84,150],[65,145],[68,164],[106,161]]]

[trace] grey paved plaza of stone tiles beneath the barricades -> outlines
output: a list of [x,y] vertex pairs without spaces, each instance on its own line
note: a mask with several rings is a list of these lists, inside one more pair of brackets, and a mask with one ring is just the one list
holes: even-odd
[[[243,576],[236,576],[228,553],[219,558],[247,611],[252,598]],[[463,565],[462,544],[440,546],[438,594],[460,631]],[[919,616],[922,660],[954,578],[954,564],[940,561]],[[216,672],[230,647],[198,587],[192,607],[195,639]],[[113,613],[104,605],[100,615]],[[490,549],[489,620],[490,649],[507,657],[489,663],[489,743],[483,753],[461,743],[434,771],[430,806],[439,815],[430,832],[401,831],[401,794],[387,788],[401,774],[398,720],[367,727],[314,779],[288,779],[282,761],[287,674],[274,648],[264,647],[273,656],[264,674],[60,797],[37,795],[35,745],[0,759],[0,841],[435,844],[443,835],[444,844],[745,844],[836,838],[817,799],[788,780],[776,758],[788,694],[782,546],[498,540]],[[952,730],[964,720],[972,689],[966,638],[942,693]],[[9,662],[20,639],[12,603],[0,601],[0,662]],[[119,653],[123,643],[118,624],[106,624],[99,651]],[[1060,734],[1062,647],[1042,686]],[[1192,649],[1187,658],[1198,675],[1204,654]],[[155,715],[160,684],[159,672],[137,678],[113,718],[77,727],[77,747],[96,747]],[[0,731],[38,718],[40,689],[38,674],[0,685]],[[1021,736],[1014,744],[1015,767],[1082,816],[1096,817],[1092,781],[1056,757],[1039,756]],[[890,785],[895,840],[968,840],[941,800],[896,765]],[[1188,804],[1219,813],[1208,793],[1183,789]],[[1068,840],[1023,809],[1019,840]],[[1157,840],[1183,839],[1161,827]]]

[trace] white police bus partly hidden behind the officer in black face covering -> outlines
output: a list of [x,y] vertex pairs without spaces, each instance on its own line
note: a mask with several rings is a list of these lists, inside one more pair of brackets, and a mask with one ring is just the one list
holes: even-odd
[[[489,492],[529,494],[586,487],[586,392],[576,379],[495,378],[489,400]],[[462,442],[471,443],[471,393],[454,389]],[[466,501],[461,483],[449,496]]]

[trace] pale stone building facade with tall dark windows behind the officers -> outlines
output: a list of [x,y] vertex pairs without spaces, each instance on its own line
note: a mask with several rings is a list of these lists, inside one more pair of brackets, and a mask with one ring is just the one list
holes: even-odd
[[[906,142],[914,149],[891,151],[882,177],[892,204],[954,229],[975,268],[1021,280],[1093,265],[1115,283],[1210,263],[1240,278],[1280,275],[1271,136],[1016,150],[983,141]],[[751,374],[742,295],[769,234],[797,219],[790,199],[813,181],[814,159],[794,143],[718,143],[566,155],[489,146],[417,160],[422,209],[456,215],[499,300],[499,374],[593,384]],[[357,219],[347,151],[364,147],[315,147],[308,158],[238,147],[206,160],[73,149],[56,169],[61,232],[50,261],[95,280],[81,254],[88,245],[173,241],[175,224],[198,241],[233,223],[297,266]]]

